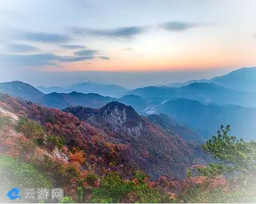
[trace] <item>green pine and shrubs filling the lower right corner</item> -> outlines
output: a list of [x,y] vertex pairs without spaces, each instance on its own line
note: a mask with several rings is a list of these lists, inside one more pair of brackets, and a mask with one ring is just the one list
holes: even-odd
[[[230,136],[230,126],[220,126],[216,135],[203,145],[205,153],[213,156],[215,163],[208,166],[195,167],[195,176],[201,175],[208,178],[224,177],[229,188],[229,193],[218,187],[190,187],[183,192],[182,200],[192,203],[247,203],[255,202],[255,172],[256,172],[256,142],[245,142]],[[188,176],[193,176],[193,171],[188,170]],[[226,189],[227,190],[227,189]]]

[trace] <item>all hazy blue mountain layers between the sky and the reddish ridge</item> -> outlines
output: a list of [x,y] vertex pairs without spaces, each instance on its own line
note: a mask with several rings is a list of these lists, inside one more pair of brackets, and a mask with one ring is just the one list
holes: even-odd
[[[120,98],[102,96],[97,93],[84,94],[77,91],[45,94],[22,81],[0,83],[0,91],[57,109],[65,109],[69,106],[85,106],[98,109],[111,101],[117,101],[132,106],[138,114],[144,117],[151,114],[166,114],[165,116],[161,115],[160,118],[151,115],[151,118],[147,118],[147,120],[156,123],[155,125],[163,125],[161,128],[167,131],[168,134],[175,134],[173,131],[175,129],[178,131],[181,128],[183,132],[176,133],[183,135],[185,127],[188,127],[190,130],[187,132],[189,132],[191,138],[198,137],[196,136],[198,134],[208,139],[212,134],[215,134],[216,129],[221,124],[230,124],[233,133],[238,137],[254,139],[253,121],[256,115],[256,92],[254,87],[256,86],[253,86],[252,76],[255,70],[255,68],[242,68],[227,75],[213,78],[208,82],[204,79],[197,82],[190,81],[191,83],[188,82],[188,85],[180,87],[147,86],[126,90],[115,85],[99,85],[92,82],[73,84],[69,87],[70,90],[86,88],[83,90],[88,92],[100,87],[102,91],[109,90],[112,87],[112,91],[116,89],[124,91],[124,95],[121,94],[122,91],[117,94],[122,96]],[[242,77],[239,78],[239,74]],[[232,89],[235,84],[234,81],[237,81],[237,84],[242,84],[240,89],[243,90]],[[246,83],[247,81],[248,83]],[[247,89],[245,90],[245,88]],[[62,91],[63,89],[56,86],[52,90]],[[68,87],[65,90],[68,91]],[[173,120],[175,120],[175,125],[172,122]],[[195,132],[192,132],[192,129]],[[185,137],[189,137],[189,135],[184,135]]]

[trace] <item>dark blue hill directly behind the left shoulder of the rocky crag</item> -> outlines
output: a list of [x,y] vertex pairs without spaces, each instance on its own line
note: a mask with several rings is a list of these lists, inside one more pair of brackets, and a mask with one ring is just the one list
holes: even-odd
[[68,106],[85,105],[91,108],[100,108],[106,105],[114,98],[101,96],[100,94],[82,94],[73,91],[69,94],[50,93],[34,101],[51,108],[64,109]]

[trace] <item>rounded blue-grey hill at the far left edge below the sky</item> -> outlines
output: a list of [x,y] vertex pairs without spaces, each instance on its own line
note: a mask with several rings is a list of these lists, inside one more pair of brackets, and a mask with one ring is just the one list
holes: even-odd
[[0,91],[2,93],[7,93],[28,100],[34,100],[38,97],[45,95],[32,85],[23,83],[22,81],[10,81],[0,83]]

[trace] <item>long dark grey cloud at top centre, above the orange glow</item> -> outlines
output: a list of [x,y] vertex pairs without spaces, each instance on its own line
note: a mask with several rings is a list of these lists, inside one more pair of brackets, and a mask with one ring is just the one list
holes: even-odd
[[90,28],[80,28],[72,27],[72,32],[79,35],[95,35],[99,37],[108,38],[119,38],[119,39],[133,39],[136,35],[145,32],[143,27],[123,27],[115,29],[90,29]]

